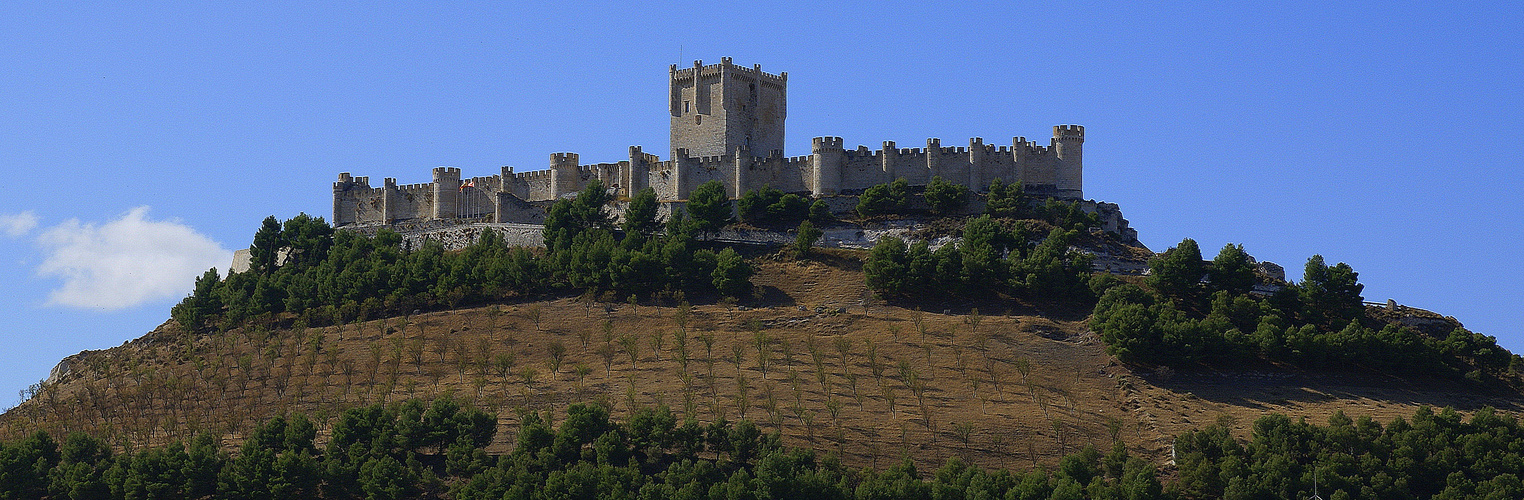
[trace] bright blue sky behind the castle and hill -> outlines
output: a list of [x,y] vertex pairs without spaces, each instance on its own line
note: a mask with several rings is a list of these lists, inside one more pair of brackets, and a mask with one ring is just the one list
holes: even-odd
[[1518,3],[0,5],[0,404],[338,172],[664,155],[669,64],[788,72],[788,154],[1087,128],[1154,250],[1314,253],[1524,351]]

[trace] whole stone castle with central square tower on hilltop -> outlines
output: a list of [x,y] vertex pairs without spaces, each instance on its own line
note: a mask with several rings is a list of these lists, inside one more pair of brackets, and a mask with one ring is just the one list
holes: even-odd
[[904,177],[913,186],[931,177],[983,191],[995,178],[1021,181],[1036,197],[1084,200],[1082,145],[1085,128],[1053,127],[1047,146],[1015,137],[1009,146],[974,137],[968,146],[943,146],[927,139],[925,148],[844,149],[841,137],[815,137],[809,155],[783,155],[783,119],[788,73],[693,61],[669,69],[672,151],[669,160],[629,146],[617,163],[581,165],[576,152],[555,152],[550,169],[462,178],[459,168],[436,168],[427,184],[398,184],[386,178],[372,188],[369,177],[338,174],[334,183],[334,226],[390,224],[408,220],[520,221],[524,207],[553,201],[600,180],[616,197],[652,188],[661,201],[681,201],[712,180],[732,198],[773,186],[812,197],[852,195],[873,184]]

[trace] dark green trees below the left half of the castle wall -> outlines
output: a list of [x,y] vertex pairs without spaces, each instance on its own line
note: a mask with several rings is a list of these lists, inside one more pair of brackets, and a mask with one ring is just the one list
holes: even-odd
[[[209,270],[171,312],[195,329],[232,328],[279,312],[325,325],[539,293],[750,293],[751,267],[741,255],[704,248],[695,239],[698,232],[712,230],[713,221],[678,212],[660,223],[655,194],[648,189],[631,200],[616,227],[607,201],[602,184],[593,181],[576,198],[555,203],[546,218],[543,253],[511,248],[492,230],[463,252],[445,252],[433,241],[404,248],[390,230],[366,236],[334,232],[305,213],[285,224],[270,216],[255,235],[248,273],[221,279]],[[695,209],[727,218],[730,210]]]

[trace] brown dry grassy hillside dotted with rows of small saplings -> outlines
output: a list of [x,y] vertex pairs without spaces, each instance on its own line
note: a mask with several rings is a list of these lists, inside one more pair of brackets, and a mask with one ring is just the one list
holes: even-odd
[[494,451],[507,450],[523,409],[564,415],[597,401],[616,415],[664,404],[704,422],[747,418],[849,465],[962,456],[1029,466],[1113,439],[1164,462],[1184,430],[1222,421],[1247,436],[1268,412],[1390,421],[1420,404],[1518,412],[1524,401],[1378,377],[1146,378],[1105,354],[1082,311],[1044,316],[995,299],[931,312],[885,305],[864,288],[858,256],[756,259],[757,305],[698,305],[683,322],[674,306],[558,299],[201,337],[166,325],[82,355],[64,381],[0,416],[0,438],[87,430],[157,444],[200,428],[232,444],[279,413],[306,412],[326,430],[347,407],[454,393],[498,415]]

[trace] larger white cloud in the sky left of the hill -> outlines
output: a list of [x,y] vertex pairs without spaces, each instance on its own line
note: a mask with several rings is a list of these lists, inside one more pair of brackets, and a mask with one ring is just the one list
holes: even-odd
[[62,277],[49,305],[122,309],[183,297],[207,268],[226,268],[233,252],[178,221],[151,221],[136,207],[102,226],[69,220],[38,235],[46,255],[37,273]]

